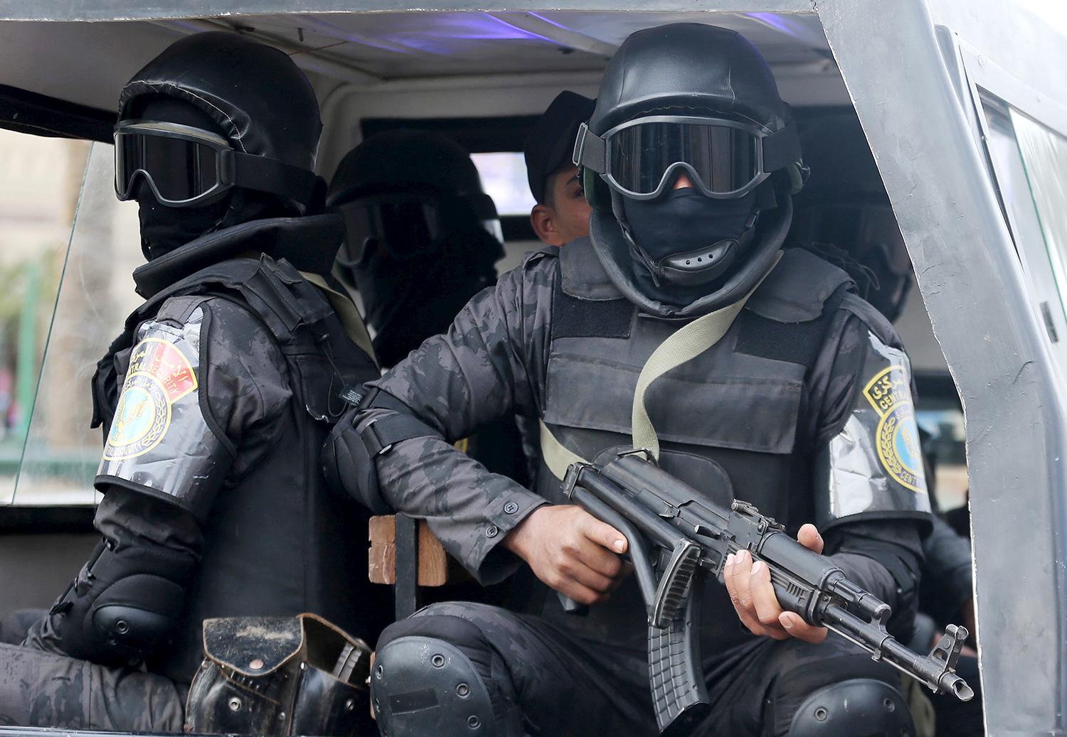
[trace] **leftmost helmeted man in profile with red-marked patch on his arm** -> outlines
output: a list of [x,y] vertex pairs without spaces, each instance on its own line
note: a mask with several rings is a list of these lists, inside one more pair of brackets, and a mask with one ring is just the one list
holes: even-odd
[[359,586],[365,516],[321,481],[338,395],[378,372],[323,276],[343,224],[314,214],[320,129],[288,57],[235,34],[184,38],[123,90],[116,191],[148,263],[93,385],[103,540],[2,646],[0,723],[180,732],[205,619],[315,612],[372,634],[389,610]]

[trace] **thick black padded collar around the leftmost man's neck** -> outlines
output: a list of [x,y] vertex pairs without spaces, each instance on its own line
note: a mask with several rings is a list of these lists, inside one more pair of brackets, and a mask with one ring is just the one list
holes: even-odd
[[137,293],[144,299],[212,263],[252,251],[285,258],[300,271],[329,274],[345,237],[339,213],[253,220],[209,233],[134,269]]

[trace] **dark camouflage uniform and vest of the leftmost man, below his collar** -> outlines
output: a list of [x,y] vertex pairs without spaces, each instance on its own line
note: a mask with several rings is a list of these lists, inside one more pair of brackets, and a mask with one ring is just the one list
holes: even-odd
[[[324,319],[347,341],[336,316]],[[181,732],[204,619],[313,611],[366,631],[387,611],[376,592],[350,586],[357,575],[366,580],[357,510],[314,481],[315,451],[336,417],[330,404],[339,412],[343,383],[377,373],[366,354],[353,365],[335,342],[330,362],[301,354],[303,373],[294,375],[276,336],[233,297],[165,300],[134,336],[113,357],[117,381],[107,401],[117,403],[116,419],[96,479],[105,496],[94,524],[113,549],[141,550],[146,572],[154,558],[181,561],[180,609],[155,652],[123,662],[103,634],[65,640],[64,594],[21,646],[0,644],[0,724]],[[164,424],[138,427],[150,410],[124,407],[146,395],[165,404],[155,415]],[[91,565],[75,591],[98,584]]]

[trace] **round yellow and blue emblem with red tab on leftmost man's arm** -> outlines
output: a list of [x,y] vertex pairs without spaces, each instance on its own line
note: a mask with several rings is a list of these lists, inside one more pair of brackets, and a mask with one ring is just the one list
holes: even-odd
[[189,359],[174,343],[162,338],[139,342],[130,355],[103,458],[136,458],[159,445],[171,427],[174,402],[196,385]]

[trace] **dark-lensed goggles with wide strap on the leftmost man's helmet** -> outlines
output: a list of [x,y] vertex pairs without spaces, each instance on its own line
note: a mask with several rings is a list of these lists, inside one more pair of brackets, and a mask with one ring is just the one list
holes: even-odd
[[115,126],[115,194],[131,199],[138,176],[168,207],[197,207],[233,187],[270,192],[306,205],[315,174],[276,159],[235,151],[226,139],[174,123],[126,121]]

